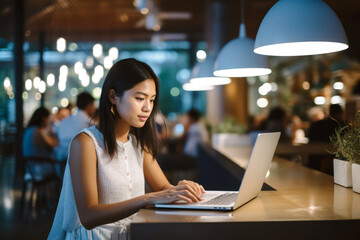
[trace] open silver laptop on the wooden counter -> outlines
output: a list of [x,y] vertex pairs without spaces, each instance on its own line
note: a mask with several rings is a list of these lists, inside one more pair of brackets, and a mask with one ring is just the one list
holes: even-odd
[[246,167],[239,191],[206,191],[203,200],[196,203],[176,201],[155,204],[156,208],[231,211],[254,199],[261,191],[270,168],[280,132],[259,133]]

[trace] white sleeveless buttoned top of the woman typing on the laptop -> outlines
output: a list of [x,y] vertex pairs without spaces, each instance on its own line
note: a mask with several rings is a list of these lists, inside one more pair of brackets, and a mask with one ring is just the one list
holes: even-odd
[[[97,187],[99,204],[125,201],[145,193],[143,152],[134,136],[126,143],[117,142],[118,155],[113,159],[105,150],[102,133],[95,127],[79,133],[89,135],[97,156]],[[78,133],[78,134],[79,134]],[[76,173],[73,173],[76,174]],[[128,239],[133,217],[86,230],[80,222],[71,183],[69,161],[66,164],[58,207],[48,239]]]

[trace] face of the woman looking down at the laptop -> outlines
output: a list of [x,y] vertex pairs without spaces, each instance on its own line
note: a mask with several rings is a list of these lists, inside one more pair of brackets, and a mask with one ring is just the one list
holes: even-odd
[[156,98],[156,86],[153,79],[138,83],[124,92],[122,97],[116,98],[116,110],[120,121],[130,126],[141,128],[151,114]]

